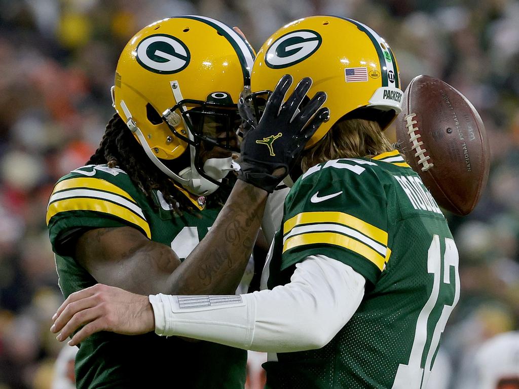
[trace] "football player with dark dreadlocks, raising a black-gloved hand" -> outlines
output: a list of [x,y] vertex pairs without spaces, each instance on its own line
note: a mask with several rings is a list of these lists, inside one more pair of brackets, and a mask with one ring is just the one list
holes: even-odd
[[[277,143],[285,153],[261,158],[248,137],[229,196],[220,186],[235,175],[237,102],[253,55],[236,31],[198,16],[159,20],[130,39],[112,88],[116,114],[99,149],[50,196],[47,224],[65,297],[98,282],[139,294],[235,293],[268,192],[326,117],[318,112],[324,93],[297,109],[309,79],[281,106],[292,84],[284,77],[276,115],[254,136],[260,142],[284,126]],[[101,332],[79,344],[76,382],[149,387],[182,376],[183,387],[242,388],[246,359],[215,343]]]

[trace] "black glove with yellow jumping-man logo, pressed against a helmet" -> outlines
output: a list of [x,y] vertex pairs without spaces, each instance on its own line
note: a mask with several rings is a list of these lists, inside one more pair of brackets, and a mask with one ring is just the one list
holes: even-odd
[[292,76],[281,77],[259,122],[243,97],[238,103],[244,132],[238,178],[269,193],[289,174],[310,137],[330,117],[330,110],[321,108],[326,101],[324,92],[317,92],[299,110],[312,85],[309,77],[303,78],[286,103],[281,105],[291,85]]

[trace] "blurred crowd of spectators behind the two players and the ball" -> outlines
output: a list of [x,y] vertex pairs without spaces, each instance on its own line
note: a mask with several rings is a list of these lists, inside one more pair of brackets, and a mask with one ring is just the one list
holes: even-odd
[[[47,200],[56,180],[99,144],[113,114],[119,53],[143,26],[193,13],[239,26],[256,49],[297,18],[357,19],[392,46],[404,87],[418,74],[440,77],[477,108],[490,140],[490,179],[469,216],[447,214],[462,289],[431,383],[466,387],[480,345],[517,329],[519,319],[516,0],[0,0],[0,389],[51,387],[62,346],[49,327],[62,296]],[[261,376],[257,363],[251,371]]]

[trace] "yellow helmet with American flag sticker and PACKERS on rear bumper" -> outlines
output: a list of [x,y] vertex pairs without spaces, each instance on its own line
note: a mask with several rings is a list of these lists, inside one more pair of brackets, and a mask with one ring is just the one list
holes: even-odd
[[257,53],[251,76],[252,105],[261,115],[266,94],[284,74],[294,85],[313,81],[308,96],[327,94],[330,120],[321,124],[305,148],[315,145],[344,115],[370,110],[383,129],[401,112],[402,95],[397,61],[386,41],[370,27],[335,16],[312,16],[286,24]]

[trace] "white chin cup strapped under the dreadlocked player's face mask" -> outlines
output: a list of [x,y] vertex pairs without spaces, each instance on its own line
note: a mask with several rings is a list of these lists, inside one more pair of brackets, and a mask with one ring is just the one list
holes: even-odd
[[[227,175],[227,173],[229,173],[231,170],[235,170],[232,164],[232,157],[211,158],[203,164],[203,171],[209,177],[221,183],[222,179]],[[200,175],[193,163],[188,168],[182,170],[179,174],[182,178],[188,180],[189,182],[189,184],[184,185],[184,188],[198,196],[210,195],[219,187],[219,185]]]

